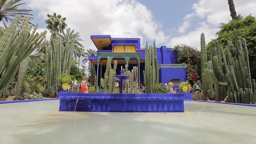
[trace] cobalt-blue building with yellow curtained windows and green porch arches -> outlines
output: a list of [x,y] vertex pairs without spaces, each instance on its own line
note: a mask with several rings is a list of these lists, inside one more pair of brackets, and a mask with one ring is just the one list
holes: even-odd
[[[100,87],[100,79],[104,78],[108,56],[112,59],[112,66],[117,60],[117,75],[121,66],[128,65],[128,70],[131,70],[133,66],[138,66],[139,80],[144,82],[145,49],[141,48],[140,38],[112,38],[110,35],[92,35],[91,39],[98,49],[97,56],[89,57],[89,60],[95,64],[97,71],[97,92],[104,90]],[[186,81],[186,65],[177,64],[177,52],[166,46],[161,46],[157,48],[157,58],[161,83],[173,79],[174,85],[177,87],[180,82]]]

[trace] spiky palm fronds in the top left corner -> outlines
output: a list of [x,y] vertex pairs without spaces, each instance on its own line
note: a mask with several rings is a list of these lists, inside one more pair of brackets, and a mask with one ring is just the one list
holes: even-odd
[[[0,22],[7,27],[8,22],[12,22],[17,14],[24,16],[33,16],[32,10],[20,9],[19,6],[26,3],[19,3],[21,0],[0,0]],[[21,19],[22,20],[22,19]]]

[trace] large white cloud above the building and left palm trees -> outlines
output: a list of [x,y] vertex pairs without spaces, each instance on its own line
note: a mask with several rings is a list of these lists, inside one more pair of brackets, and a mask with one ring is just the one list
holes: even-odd
[[27,4],[44,19],[54,12],[66,17],[68,26],[80,32],[85,49],[95,48],[90,35],[139,37],[142,45],[146,40],[165,44],[171,37],[136,0],[27,0]]

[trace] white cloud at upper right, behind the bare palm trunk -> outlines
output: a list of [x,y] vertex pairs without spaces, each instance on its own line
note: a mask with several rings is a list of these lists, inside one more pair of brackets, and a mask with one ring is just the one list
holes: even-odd
[[[256,13],[255,0],[234,0],[236,13],[246,17],[249,14]],[[200,49],[200,34],[204,33],[206,43],[215,38],[215,33],[219,31],[220,23],[228,23],[231,20],[229,6],[227,0],[198,0],[192,5],[194,10],[192,13],[184,17],[184,22],[178,29],[179,33],[184,33],[190,27],[190,22],[194,17],[200,18],[196,28],[183,34],[171,38],[167,46],[175,46],[176,44],[188,44],[196,46]]]

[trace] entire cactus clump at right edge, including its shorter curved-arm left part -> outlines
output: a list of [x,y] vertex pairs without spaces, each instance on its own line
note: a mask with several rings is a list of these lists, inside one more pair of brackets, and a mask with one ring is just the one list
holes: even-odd
[[223,94],[227,91],[230,102],[255,104],[256,83],[251,80],[246,40],[238,40],[236,29],[234,34],[235,46],[228,41],[225,54],[217,44],[218,49],[212,49],[213,69],[209,66],[204,72],[209,82],[214,84],[216,101],[225,98]]

